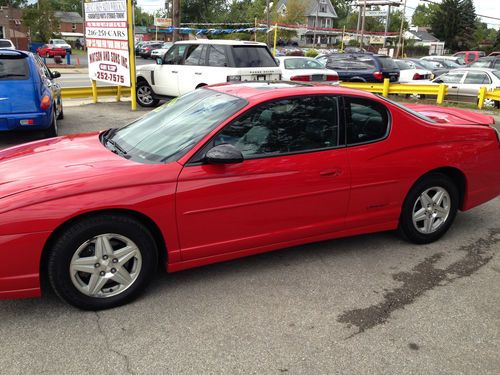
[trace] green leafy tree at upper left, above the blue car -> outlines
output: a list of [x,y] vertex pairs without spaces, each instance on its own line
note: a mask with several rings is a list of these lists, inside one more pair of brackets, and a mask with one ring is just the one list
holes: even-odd
[[33,41],[47,42],[59,30],[59,20],[49,0],[40,0],[39,7],[26,8],[23,24],[29,27]]

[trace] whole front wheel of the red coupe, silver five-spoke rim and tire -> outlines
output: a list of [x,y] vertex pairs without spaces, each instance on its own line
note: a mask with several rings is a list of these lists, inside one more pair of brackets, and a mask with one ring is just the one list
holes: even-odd
[[59,297],[83,310],[132,301],[150,282],[157,246],[149,230],[132,218],[109,214],[67,228],[49,255],[48,277]]

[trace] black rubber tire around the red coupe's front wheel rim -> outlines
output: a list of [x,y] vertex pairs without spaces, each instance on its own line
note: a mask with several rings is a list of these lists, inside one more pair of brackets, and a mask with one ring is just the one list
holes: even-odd
[[[74,276],[72,276],[70,271],[70,265],[72,264],[71,262],[74,256],[77,256],[76,254],[79,252],[78,249],[82,247],[82,244],[85,244],[86,241],[97,239],[99,236],[102,237],[104,234],[109,234],[110,236],[123,236],[130,239],[133,244],[136,245],[140,253],[141,265],[137,271],[137,275],[134,276],[134,281],[118,294],[105,296],[104,290],[106,288],[111,288],[111,292],[108,292],[108,294],[113,293],[113,287],[106,287],[108,284],[105,284],[98,289],[98,292],[102,293],[100,297],[86,295],[75,286],[73,281]],[[94,245],[94,249],[95,248],[96,245]],[[88,251],[87,248],[85,248],[85,251]],[[94,256],[95,255],[96,253],[94,250]],[[110,257],[113,256],[114,255],[110,255]],[[113,259],[113,263],[114,261],[115,259]],[[131,259],[131,261],[135,261],[135,259]],[[113,265],[109,260],[107,262],[110,267]],[[82,219],[64,230],[54,242],[50,250],[47,264],[48,279],[52,288],[60,298],[82,310],[95,311],[120,306],[137,298],[155,274],[158,264],[158,251],[156,242],[144,225],[128,216],[105,214]],[[109,274],[109,277],[112,277],[109,270],[106,272],[106,275]],[[77,273],[79,274],[79,272]],[[108,276],[102,276],[102,279],[106,278],[111,284],[114,283]],[[119,288],[117,287],[117,289]]]

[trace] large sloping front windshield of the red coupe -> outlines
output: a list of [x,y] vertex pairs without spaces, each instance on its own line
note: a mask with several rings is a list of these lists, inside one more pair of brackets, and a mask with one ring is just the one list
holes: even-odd
[[195,90],[121,129],[104,133],[102,141],[113,152],[137,162],[175,161],[246,103],[214,90]]

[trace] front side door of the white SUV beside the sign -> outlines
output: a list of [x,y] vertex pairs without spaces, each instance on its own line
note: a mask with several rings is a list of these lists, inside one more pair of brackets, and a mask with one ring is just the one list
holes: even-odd
[[179,71],[182,69],[187,44],[174,44],[163,58],[163,64],[155,66],[153,91],[164,96],[179,96]]

